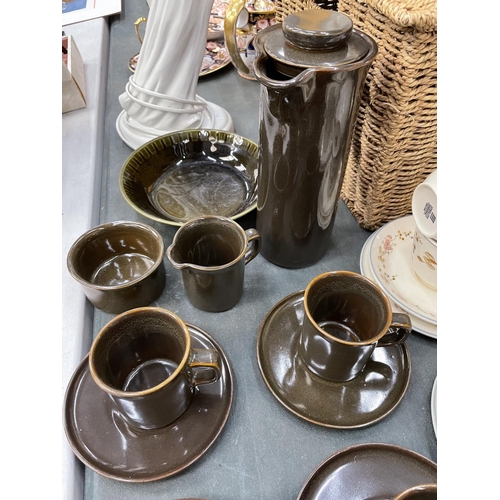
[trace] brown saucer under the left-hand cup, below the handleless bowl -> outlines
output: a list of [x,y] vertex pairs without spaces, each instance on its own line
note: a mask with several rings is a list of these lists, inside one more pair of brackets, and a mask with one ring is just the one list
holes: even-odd
[[219,351],[221,377],[200,386],[189,408],[162,429],[131,428],[92,379],[88,355],[76,369],[64,399],[64,429],[75,455],[95,472],[130,483],[156,481],[191,465],[219,436],[233,401],[231,367],[212,337],[188,328],[193,348]]

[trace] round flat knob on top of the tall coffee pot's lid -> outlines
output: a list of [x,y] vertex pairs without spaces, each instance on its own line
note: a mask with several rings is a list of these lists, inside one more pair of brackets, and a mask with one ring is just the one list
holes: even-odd
[[311,9],[289,14],[282,24],[286,40],[307,50],[329,50],[351,36],[351,19],[334,10]]

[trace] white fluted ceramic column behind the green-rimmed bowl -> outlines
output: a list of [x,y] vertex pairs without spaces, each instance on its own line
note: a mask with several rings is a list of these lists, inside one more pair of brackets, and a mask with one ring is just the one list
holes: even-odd
[[234,130],[221,106],[196,94],[213,0],[149,0],[135,73],[119,96],[116,121],[132,149],[177,130]]

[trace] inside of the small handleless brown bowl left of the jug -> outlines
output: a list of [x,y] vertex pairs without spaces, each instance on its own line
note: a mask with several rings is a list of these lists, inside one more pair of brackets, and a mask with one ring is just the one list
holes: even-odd
[[68,255],[73,274],[96,286],[120,286],[140,279],[163,259],[163,241],[133,223],[98,226],[83,235]]

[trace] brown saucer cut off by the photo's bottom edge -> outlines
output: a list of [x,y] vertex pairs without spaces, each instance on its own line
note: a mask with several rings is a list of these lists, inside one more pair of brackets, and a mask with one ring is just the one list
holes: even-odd
[[297,500],[391,500],[411,486],[437,482],[437,465],[390,444],[361,444],[327,458]]

